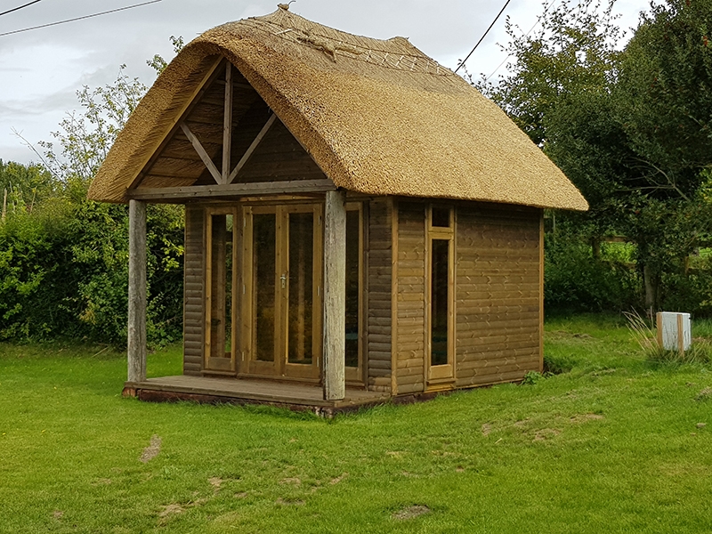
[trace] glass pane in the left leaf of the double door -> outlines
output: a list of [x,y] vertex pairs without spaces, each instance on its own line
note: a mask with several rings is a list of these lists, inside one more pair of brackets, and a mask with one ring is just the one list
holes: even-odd
[[253,339],[255,359],[260,361],[274,361],[276,236],[275,214],[253,215]]

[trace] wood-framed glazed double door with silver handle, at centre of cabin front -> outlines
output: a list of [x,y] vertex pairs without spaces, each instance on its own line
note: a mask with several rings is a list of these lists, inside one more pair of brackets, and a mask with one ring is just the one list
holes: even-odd
[[242,374],[320,377],[321,211],[245,208]]

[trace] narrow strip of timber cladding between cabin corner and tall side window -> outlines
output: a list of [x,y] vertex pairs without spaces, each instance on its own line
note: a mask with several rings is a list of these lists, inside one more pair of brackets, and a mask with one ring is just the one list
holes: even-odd
[[398,394],[425,391],[425,203],[398,202]]

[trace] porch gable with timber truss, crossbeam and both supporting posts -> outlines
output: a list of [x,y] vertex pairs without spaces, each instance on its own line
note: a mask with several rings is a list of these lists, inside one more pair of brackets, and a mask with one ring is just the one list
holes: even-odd
[[287,193],[324,198],[321,381],[325,400],[344,399],[344,191],[336,190],[302,143],[224,59],[215,61],[128,191],[129,383],[146,379],[145,203]]

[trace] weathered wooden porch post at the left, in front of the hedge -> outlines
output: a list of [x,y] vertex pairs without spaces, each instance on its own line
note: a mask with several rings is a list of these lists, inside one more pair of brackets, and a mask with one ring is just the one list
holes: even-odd
[[128,382],[146,379],[146,204],[128,204]]

